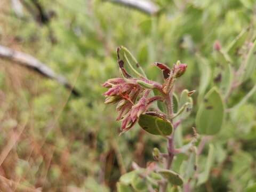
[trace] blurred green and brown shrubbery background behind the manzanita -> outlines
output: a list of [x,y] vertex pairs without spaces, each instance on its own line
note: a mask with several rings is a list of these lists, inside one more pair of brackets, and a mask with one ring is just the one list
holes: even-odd
[[[0,190],[115,191],[133,161],[146,166],[153,161],[154,147],[166,148],[164,139],[148,135],[138,125],[118,136],[115,107],[103,103],[106,90],[101,87],[119,76],[116,47],[126,46],[153,80],[162,81],[151,65],[155,61],[187,63],[178,94],[198,90],[205,72],[202,65],[208,63],[210,89],[219,86],[221,73],[212,59],[214,42],[225,47],[248,27],[254,39],[254,2],[154,0],[151,12],[145,12],[115,1],[1,0]],[[4,55],[6,50],[9,55]],[[22,61],[28,55],[22,53],[69,84],[63,86],[59,78],[28,66]],[[227,105],[241,100],[255,82],[254,73]],[[185,139],[195,124],[196,97],[192,115],[182,123]],[[252,95],[227,115],[215,140],[210,179],[195,191],[243,191],[255,182],[255,101]],[[207,148],[202,162],[205,154]]]

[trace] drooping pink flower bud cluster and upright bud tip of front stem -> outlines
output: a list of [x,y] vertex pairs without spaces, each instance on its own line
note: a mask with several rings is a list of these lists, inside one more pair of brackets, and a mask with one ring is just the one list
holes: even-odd
[[[145,76],[141,75],[134,68],[130,66],[127,62],[127,67],[131,68],[137,77],[134,78],[124,68],[124,60],[127,60],[126,54],[129,52],[122,52],[120,54],[120,47],[117,49],[118,53],[118,65],[119,71],[121,72],[122,78],[111,78],[102,84],[103,87],[108,88],[108,90],[103,93],[105,95],[105,103],[118,103],[116,110],[118,111],[117,121],[121,120],[121,131],[125,132],[131,129],[135,123],[138,121],[139,117],[143,113],[147,113],[150,105],[157,100],[164,100],[162,96],[149,97],[149,93],[153,89],[157,89],[161,93],[164,92],[164,85],[169,85],[167,87],[171,88],[176,77],[180,77],[185,73],[187,65],[177,62],[172,69],[164,65],[163,63],[155,63],[155,65],[162,70],[163,76],[165,78],[165,84],[159,84],[154,81],[150,81]],[[136,63],[138,67],[138,63]],[[169,83],[169,84],[168,84]],[[155,113],[151,111],[151,113]],[[161,114],[159,114],[161,115]],[[163,116],[163,115],[162,115]]]

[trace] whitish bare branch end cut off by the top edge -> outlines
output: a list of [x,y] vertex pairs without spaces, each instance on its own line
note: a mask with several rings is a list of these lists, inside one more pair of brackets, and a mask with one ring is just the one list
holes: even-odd
[[146,0],[105,0],[118,3],[133,9],[137,9],[149,15],[155,15],[159,11],[159,7],[153,2]]

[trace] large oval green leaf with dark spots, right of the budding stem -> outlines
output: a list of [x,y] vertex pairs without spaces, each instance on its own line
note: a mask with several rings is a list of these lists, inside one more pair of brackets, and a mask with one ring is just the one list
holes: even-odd
[[199,106],[196,114],[196,130],[199,134],[217,134],[224,119],[224,105],[221,95],[216,87],[213,87]]

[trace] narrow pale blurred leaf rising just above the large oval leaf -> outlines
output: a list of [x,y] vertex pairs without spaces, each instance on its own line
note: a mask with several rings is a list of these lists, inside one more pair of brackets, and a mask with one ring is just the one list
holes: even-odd
[[203,99],[203,95],[207,86],[210,83],[211,79],[211,67],[210,63],[207,59],[202,58],[201,56],[197,55],[198,59],[198,67],[200,70],[200,83],[199,83],[199,90],[198,90],[198,101],[201,102]]

